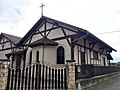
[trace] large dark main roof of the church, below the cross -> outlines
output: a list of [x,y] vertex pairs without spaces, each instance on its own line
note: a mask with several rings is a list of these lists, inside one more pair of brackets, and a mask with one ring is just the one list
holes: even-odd
[[[42,16],[37,22],[36,24],[28,31],[28,33],[20,40],[20,42],[18,43],[18,46],[22,45],[29,37],[31,37],[31,35],[37,30],[37,28],[44,22],[44,21],[48,21],[48,22],[54,22],[54,23],[58,23],[59,26],[63,27],[63,28],[67,28],[68,30],[71,30],[73,32],[76,32],[77,34],[80,34],[81,32],[84,34],[89,33],[89,35],[87,35],[86,37],[93,39],[93,41],[95,42],[99,42],[102,46],[107,47],[107,49],[109,49],[109,51],[116,51],[114,48],[112,48],[111,46],[109,46],[108,44],[106,44],[105,42],[103,42],[102,40],[100,40],[99,38],[97,38],[95,35],[93,35],[92,33],[90,33],[89,31],[55,20],[55,19],[51,19],[49,17],[45,17]],[[79,33],[80,32],[80,33]]]

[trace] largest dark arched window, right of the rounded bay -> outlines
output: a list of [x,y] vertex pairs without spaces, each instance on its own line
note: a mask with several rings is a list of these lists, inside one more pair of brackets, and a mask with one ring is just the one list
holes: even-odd
[[57,48],[57,64],[65,64],[65,51],[62,46]]

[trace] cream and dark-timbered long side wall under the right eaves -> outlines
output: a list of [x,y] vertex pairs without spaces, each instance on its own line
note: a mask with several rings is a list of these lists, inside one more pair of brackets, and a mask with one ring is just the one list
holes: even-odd
[[[85,52],[85,64],[94,64],[97,66],[108,66],[108,60],[106,54],[106,50],[100,53],[99,44],[95,44],[93,49],[90,50],[89,41],[86,40],[86,44],[84,43],[84,39],[78,41],[79,45],[75,46],[75,60],[77,64],[81,64],[81,52]],[[98,53],[98,59],[94,59],[94,51]],[[105,61],[104,61],[104,60]]]

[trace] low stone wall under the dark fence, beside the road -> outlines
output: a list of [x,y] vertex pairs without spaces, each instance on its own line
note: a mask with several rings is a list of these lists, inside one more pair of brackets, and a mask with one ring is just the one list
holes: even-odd
[[93,85],[96,85],[100,82],[103,82],[103,81],[105,81],[109,78],[112,78],[116,75],[119,75],[119,74],[120,74],[120,72],[115,72],[115,73],[111,73],[111,74],[96,76],[96,77],[93,77],[93,78],[76,80],[76,90],[81,90],[81,89],[84,89],[84,88],[91,87]]

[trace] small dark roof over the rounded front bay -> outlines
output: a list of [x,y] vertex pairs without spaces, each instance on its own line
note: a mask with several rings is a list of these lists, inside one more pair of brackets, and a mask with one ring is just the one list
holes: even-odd
[[48,38],[42,38],[42,39],[39,39],[35,42],[32,42],[31,44],[29,44],[28,46],[30,47],[35,47],[35,46],[39,46],[39,45],[58,45],[57,42],[53,41],[53,40],[50,40]]

